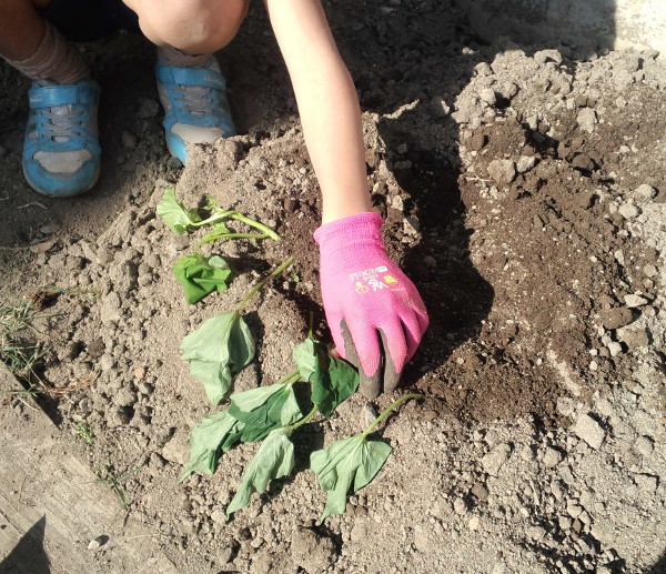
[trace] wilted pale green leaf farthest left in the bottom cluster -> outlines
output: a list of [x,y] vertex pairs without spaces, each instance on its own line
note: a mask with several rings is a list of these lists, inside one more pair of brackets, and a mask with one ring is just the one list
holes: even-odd
[[179,483],[195,472],[213,474],[218,469],[220,454],[229,452],[241,436],[243,423],[221,411],[204,416],[192,429],[190,437],[190,460],[185,463]]

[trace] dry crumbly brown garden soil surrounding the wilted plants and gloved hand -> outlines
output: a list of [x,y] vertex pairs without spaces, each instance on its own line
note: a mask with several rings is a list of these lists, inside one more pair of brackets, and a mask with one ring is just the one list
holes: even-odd
[[[299,472],[233,522],[223,511],[252,445],[176,485],[190,429],[211,411],[181,339],[289,255],[294,268],[249,309],[259,356],[236,389],[292,371],[309,311],[323,324],[319,189],[258,7],[220,54],[242,134],[192,150],[185,168],[160,117],[144,117],[157,100],[148,43],[85,47],[105,94],[104,175],[80,199],[23,182],[27,82],[0,69],[2,293],[51,313],[41,374],[64,392],[49,414],[93,469],[141,469],[124,483],[128,512],[179,572],[664,572],[665,59],[483,46],[446,1],[339,0],[327,12],[389,250],[431,315],[404,381],[425,400],[382,432],[389,463],[346,514],[314,526],[324,495],[307,450],[365,426],[354,396],[302,431]],[[215,248],[236,276],[190,308],[171,266],[192,240],[154,213],[173,185],[186,204],[213,194],[284,238]],[[92,446],[74,436],[80,421]],[[107,531],[122,518],[90,537]],[[94,553],[87,543],[99,572],[118,572],[113,536]]]

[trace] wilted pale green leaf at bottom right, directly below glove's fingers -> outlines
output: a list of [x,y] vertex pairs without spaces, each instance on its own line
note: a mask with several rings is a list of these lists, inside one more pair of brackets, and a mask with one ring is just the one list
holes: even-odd
[[369,484],[389,459],[391,450],[386,443],[369,441],[364,434],[357,434],[310,455],[310,469],[326,493],[326,505],[319,524],[331,514],[344,513],[350,490],[355,492]]

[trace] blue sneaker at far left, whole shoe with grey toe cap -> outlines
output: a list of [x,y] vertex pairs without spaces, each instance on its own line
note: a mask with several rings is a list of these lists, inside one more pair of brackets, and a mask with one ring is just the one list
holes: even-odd
[[72,85],[32,82],[29,98],[22,158],[26,180],[50,198],[90,190],[100,177],[100,87],[92,80]]

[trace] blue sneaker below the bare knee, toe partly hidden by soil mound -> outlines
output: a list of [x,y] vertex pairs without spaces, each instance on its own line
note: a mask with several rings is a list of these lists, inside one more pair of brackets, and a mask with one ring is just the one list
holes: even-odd
[[175,68],[162,60],[155,66],[158,91],[164,107],[167,147],[185,163],[192,143],[214,143],[235,134],[226,81],[211,57],[203,68]]

